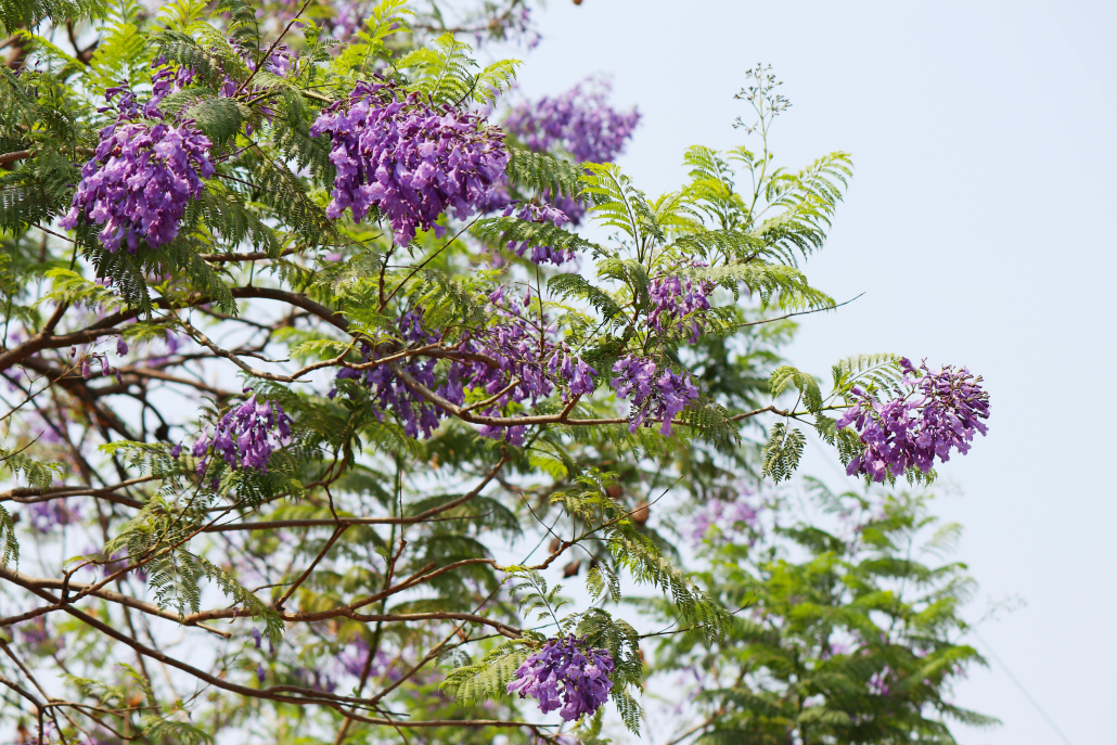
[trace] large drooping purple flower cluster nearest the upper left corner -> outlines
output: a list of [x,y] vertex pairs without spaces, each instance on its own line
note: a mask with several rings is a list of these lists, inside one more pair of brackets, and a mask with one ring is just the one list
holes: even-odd
[[93,159],[82,168],[70,211],[59,222],[64,229],[73,230],[83,217],[104,226],[98,238],[109,252],[124,242],[135,254],[141,238],[152,247],[174,240],[187,203],[201,197],[202,179],[214,172],[212,143],[192,122],[160,121],[159,102],[190,79],[189,70],[157,70],[143,106],[123,84],[105,92],[109,102],[121,95],[120,118],[101,131]]

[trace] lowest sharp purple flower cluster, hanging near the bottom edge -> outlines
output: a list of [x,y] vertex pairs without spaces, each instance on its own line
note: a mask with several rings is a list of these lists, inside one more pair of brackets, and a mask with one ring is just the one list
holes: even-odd
[[550,639],[516,670],[516,679],[508,684],[509,694],[521,698],[538,699],[540,710],[554,711],[564,722],[574,722],[593,714],[609,698],[613,687],[613,660],[603,649],[582,650],[584,640],[573,634],[565,639]]

